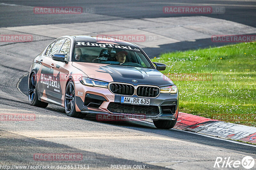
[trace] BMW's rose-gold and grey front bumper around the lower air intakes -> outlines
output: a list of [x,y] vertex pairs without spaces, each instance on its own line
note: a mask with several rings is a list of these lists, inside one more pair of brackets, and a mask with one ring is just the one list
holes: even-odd
[[[104,114],[113,116],[124,116],[132,118],[144,118],[144,119],[162,119],[162,120],[175,120],[178,116],[179,110],[179,92],[176,94],[166,94],[160,93],[156,98],[150,98],[149,106],[156,106],[158,112],[156,114],[148,114],[144,111],[143,114],[126,113],[121,110],[121,107],[114,109],[113,112],[110,111],[109,104],[116,103],[119,106],[128,105],[133,108],[141,108],[141,106],[147,110],[147,105],[133,106],[131,104],[121,104],[121,96],[111,93],[108,89],[84,86],[81,83],[75,84],[76,90],[76,111],[82,113],[94,113],[94,114]],[[81,93],[82,92],[82,93]],[[79,94],[79,96],[78,96]],[[88,98],[89,97],[89,98]],[[136,95],[131,97],[138,97]],[[144,97],[138,97],[144,98]],[[89,101],[89,102],[88,102]],[[91,101],[91,103],[90,103]],[[98,102],[98,103],[97,103]],[[127,108],[127,107],[126,107]],[[118,111],[117,111],[118,110]]]

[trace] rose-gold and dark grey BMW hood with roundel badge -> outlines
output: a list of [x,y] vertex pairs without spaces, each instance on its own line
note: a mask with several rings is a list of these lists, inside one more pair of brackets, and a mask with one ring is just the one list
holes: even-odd
[[83,62],[73,62],[72,65],[90,78],[107,82],[125,82],[133,85],[148,84],[159,87],[173,85],[168,77],[156,69]]

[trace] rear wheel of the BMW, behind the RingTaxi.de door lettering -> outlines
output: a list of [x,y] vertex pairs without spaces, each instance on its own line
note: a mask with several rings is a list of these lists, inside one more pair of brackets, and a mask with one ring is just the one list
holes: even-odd
[[29,78],[28,101],[31,106],[42,107],[42,108],[46,108],[48,106],[48,103],[38,100],[37,81],[36,81],[35,73],[33,73]]

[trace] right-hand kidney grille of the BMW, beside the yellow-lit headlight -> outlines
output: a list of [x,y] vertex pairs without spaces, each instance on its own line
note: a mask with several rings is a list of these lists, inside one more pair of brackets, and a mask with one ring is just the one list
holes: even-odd
[[137,96],[139,97],[156,97],[159,92],[159,88],[152,86],[139,86],[137,88]]

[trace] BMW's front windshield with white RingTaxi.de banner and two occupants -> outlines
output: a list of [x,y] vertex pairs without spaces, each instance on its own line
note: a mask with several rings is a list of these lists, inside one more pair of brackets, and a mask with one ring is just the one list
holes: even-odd
[[[80,45],[81,44],[81,45]],[[77,42],[73,54],[74,62],[101,63],[111,65],[152,68],[138,47],[113,44],[85,44]],[[95,45],[95,46],[92,46]],[[103,45],[103,46],[100,46]],[[109,45],[109,46],[108,46]],[[124,47],[125,49],[123,49]]]

